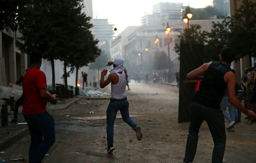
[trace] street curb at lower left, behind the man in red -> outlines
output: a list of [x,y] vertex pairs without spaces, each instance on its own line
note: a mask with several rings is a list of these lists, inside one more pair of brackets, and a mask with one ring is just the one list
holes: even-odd
[[9,146],[13,145],[16,143],[18,140],[21,138],[25,137],[26,135],[29,134],[28,128],[22,129],[21,132],[17,133],[14,136],[7,136],[4,139],[3,143],[0,144],[0,151],[3,151],[4,149],[8,148]]

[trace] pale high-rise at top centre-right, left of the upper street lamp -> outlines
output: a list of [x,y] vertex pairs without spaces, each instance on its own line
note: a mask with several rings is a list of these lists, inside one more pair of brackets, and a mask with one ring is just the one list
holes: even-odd
[[153,14],[160,13],[161,22],[169,21],[170,25],[180,24],[183,3],[160,2],[153,5]]

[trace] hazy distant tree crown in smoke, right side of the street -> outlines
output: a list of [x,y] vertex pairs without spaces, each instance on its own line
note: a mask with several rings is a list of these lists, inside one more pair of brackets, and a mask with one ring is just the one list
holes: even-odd
[[168,62],[169,58],[164,51],[159,51],[155,53],[155,60],[154,60],[154,68],[158,70],[166,69],[173,67],[172,60],[170,60],[170,65]]

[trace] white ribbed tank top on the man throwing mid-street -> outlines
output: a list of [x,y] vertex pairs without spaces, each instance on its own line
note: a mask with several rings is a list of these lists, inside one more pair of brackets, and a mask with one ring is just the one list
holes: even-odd
[[126,97],[125,89],[126,89],[127,81],[126,81],[126,76],[124,71],[122,72],[122,74],[119,74],[119,73],[116,73],[116,74],[119,77],[119,81],[116,85],[113,85],[111,83],[111,97],[113,99],[120,100]]

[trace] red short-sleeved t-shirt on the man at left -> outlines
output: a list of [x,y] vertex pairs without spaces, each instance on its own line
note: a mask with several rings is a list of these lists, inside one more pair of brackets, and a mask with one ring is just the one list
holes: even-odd
[[22,84],[24,94],[22,114],[36,115],[46,111],[47,101],[39,95],[39,89],[46,87],[44,72],[36,68],[28,68]]

